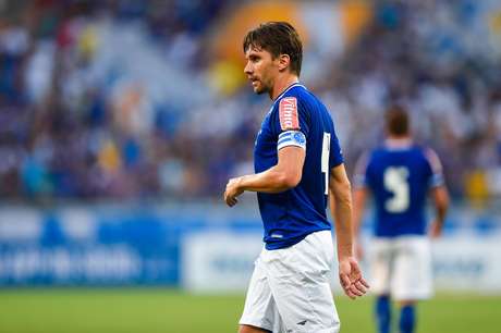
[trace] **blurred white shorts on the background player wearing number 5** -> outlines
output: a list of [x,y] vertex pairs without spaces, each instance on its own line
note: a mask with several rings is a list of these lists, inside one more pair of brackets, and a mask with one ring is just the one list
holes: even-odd
[[418,300],[432,294],[431,254],[426,236],[374,238],[370,288],[395,300]]

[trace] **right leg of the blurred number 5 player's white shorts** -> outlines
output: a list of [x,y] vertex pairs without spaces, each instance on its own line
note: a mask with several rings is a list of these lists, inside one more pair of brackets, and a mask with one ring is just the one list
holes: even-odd
[[429,298],[432,294],[431,249],[424,236],[399,239],[392,295],[398,300]]

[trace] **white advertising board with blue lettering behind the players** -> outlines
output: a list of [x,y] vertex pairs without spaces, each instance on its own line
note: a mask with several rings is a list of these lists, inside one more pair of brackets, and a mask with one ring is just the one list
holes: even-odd
[[[182,284],[195,292],[245,291],[261,248],[261,235],[257,232],[208,231],[187,235],[181,250]],[[501,293],[499,234],[444,237],[432,243],[432,252],[437,291]],[[367,268],[363,268],[367,273]],[[334,266],[332,286],[339,291],[337,275]]]

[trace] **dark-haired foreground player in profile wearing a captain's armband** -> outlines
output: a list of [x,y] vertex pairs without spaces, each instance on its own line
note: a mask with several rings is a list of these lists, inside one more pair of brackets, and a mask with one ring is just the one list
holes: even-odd
[[[228,182],[224,200],[257,192],[265,247],[250,279],[240,333],[339,332],[328,272],[333,261],[351,298],[368,287],[353,255],[351,185],[326,107],[298,83],[302,42],[289,23],[269,22],[243,42],[245,74],[272,106],[254,147],[255,174]],[[335,208],[335,209],[334,209]]]

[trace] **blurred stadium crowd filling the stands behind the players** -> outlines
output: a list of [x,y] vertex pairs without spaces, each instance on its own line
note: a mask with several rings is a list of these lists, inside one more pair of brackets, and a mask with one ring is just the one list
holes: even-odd
[[252,170],[270,106],[243,75],[250,16],[295,17],[305,33],[304,83],[332,111],[349,170],[398,102],[455,197],[501,195],[499,1],[37,0],[0,11],[0,198],[219,197]]

